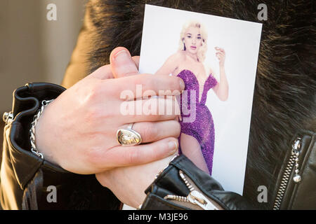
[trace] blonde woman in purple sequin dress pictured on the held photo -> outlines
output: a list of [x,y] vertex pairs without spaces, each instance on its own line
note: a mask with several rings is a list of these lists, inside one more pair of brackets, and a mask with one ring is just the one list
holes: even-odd
[[[156,75],[172,74],[183,79],[185,93],[180,96],[181,133],[179,152],[186,155],[195,165],[212,173],[215,132],[211,112],[205,105],[207,92],[211,89],[218,99],[228,99],[228,80],[225,74],[225,50],[216,47],[219,61],[220,80],[211,68],[204,64],[207,51],[207,32],[202,23],[187,22],[180,32],[179,50],[171,55]],[[192,114],[187,114],[190,111]],[[187,122],[185,118],[192,117]]]

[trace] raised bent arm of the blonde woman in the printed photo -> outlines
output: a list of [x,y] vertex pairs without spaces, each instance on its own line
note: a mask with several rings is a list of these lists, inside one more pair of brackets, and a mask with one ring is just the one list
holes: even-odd
[[225,50],[223,48],[215,48],[218,50],[216,52],[216,57],[219,59],[220,67],[220,82],[213,87],[213,91],[216,93],[218,99],[221,101],[226,101],[228,99],[228,80],[225,73]]

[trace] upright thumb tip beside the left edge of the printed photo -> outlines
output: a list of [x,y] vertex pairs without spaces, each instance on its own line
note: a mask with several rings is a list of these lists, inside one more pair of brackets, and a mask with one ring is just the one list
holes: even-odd
[[114,78],[138,74],[138,68],[134,59],[126,48],[118,47],[112,50],[110,64]]

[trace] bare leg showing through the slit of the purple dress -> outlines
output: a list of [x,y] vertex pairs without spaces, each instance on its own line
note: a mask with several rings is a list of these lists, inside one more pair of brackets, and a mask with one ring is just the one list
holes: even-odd
[[182,153],[192,160],[192,162],[202,169],[204,172],[209,174],[209,169],[207,168],[206,162],[204,160],[201,146],[199,145],[199,141],[188,134],[181,133],[180,145]]

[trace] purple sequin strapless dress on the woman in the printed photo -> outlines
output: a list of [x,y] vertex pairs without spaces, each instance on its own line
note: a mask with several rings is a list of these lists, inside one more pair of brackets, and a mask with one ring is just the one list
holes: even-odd
[[[217,80],[212,74],[209,75],[204,83],[201,102],[199,102],[199,82],[195,74],[190,70],[183,70],[178,73],[178,77],[183,79],[185,90],[187,90],[180,95],[181,133],[188,134],[197,139],[201,146],[207,168],[209,169],[209,174],[211,174],[215,133],[213,118],[205,102],[207,92],[217,84]],[[195,105],[192,105],[194,103]],[[179,144],[180,137],[178,138]],[[179,153],[182,153],[181,146],[179,146]]]

